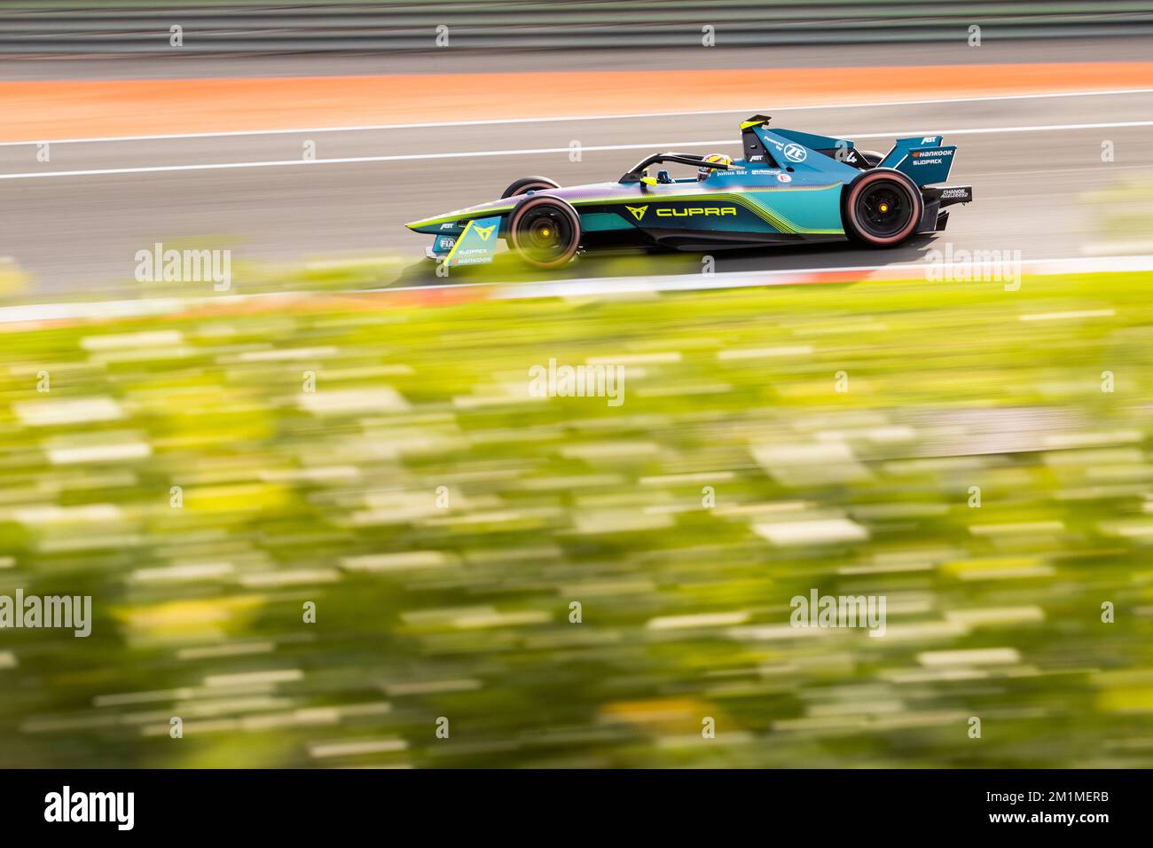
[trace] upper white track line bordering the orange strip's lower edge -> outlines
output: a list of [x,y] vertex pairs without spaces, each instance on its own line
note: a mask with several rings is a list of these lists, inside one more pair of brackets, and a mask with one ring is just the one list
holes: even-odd
[[[992,100],[1040,100],[1054,97],[1114,97],[1121,95],[1148,95],[1153,89],[1107,89],[1102,91],[1054,91],[1042,95],[989,95],[986,97],[945,97],[930,100],[877,100],[874,103],[826,103],[814,106],[775,106],[771,112],[811,112],[820,110],[842,108],[880,108],[886,106],[927,106],[949,103],[986,103]],[[166,133],[157,135],[110,135],[91,136],[88,138],[39,138],[36,141],[0,142],[2,147],[17,147],[29,144],[90,144],[98,142],[133,142],[133,141],[165,141],[174,138],[219,138],[228,136],[246,135],[300,135],[302,133],[364,133],[372,130],[389,129],[431,129],[436,127],[485,127],[512,123],[559,123],[565,121],[611,121],[615,119],[641,119],[641,118],[679,118],[692,115],[736,115],[752,114],[759,107],[751,110],[739,108],[714,108],[699,110],[694,112],[628,112],[623,114],[606,115],[557,115],[551,118],[492,118],[472,121],[428,121],[424,123],[363,123],[348,127],[301,127],[299,129],[238,129],[219,130],[214,133]],[[763,107],[760,107],[763,108]]]

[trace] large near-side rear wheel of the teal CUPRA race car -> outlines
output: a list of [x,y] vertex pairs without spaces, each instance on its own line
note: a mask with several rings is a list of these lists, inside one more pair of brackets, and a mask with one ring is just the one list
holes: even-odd
[[921,190],[889,167],[869,168],[845,187],[845,234],[869,247],[895,247],[917,232],[925,213]]

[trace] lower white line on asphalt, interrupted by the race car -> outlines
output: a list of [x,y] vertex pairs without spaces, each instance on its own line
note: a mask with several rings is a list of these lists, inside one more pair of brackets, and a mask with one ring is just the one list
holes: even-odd
[[[1153,121],[1113,121],[1109,123],[1049,123],[1039,127],[978,127],[972,129],[937,129],[937,130],[898,130],[890,133],[864,133],[853,138],[895,138],[899,136],[925,135],[981,135],[988,133],[1057,133],[1072,129],[1117,129],[1121,127],[1153,127]],[[843,136],[847,137],[847,136]],[[691,147],[732,147],[740,140],[722,138],[719,141],[694,142],[654,142],[649,144],[588,144],[585,151],[601,150],[669,150]],[[568,153],[571,148],[525,148],[521,150],[468,150],[451,153],[400,153],[397,156],[348,156],[337,159],[277,159],[270,162],[225,162],[203,165],[152,165],[144,167],[95,168],[89,171],[32,171],[20,174],[0,174],[0,180],[35,180],[47,177],[96,177],[103,174],[148,174],[165,171],[216,171],[238,167],[288,167],[292,165],[348,165],[370,162],[412,162],[416,159],[466,159],[478,156],[529,156],[534,153]]]

